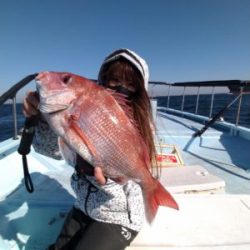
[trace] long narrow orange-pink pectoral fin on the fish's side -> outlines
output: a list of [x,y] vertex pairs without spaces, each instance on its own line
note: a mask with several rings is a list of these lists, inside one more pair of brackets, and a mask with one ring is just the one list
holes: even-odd
[[87,146],[90,154],[92,155],[93,159],[95,159],[96,162],[98,162],[98,165],[100,165],[101,160],[100,157],[96,151],[96,148],[91,143],[91,141],[88,139],[86,134],[82,131],[82,129],[78,126],[78,124],[74,121],[74,119],[71,121],[70,128],[74,130],[74,132],[81,138],[83,143]]

